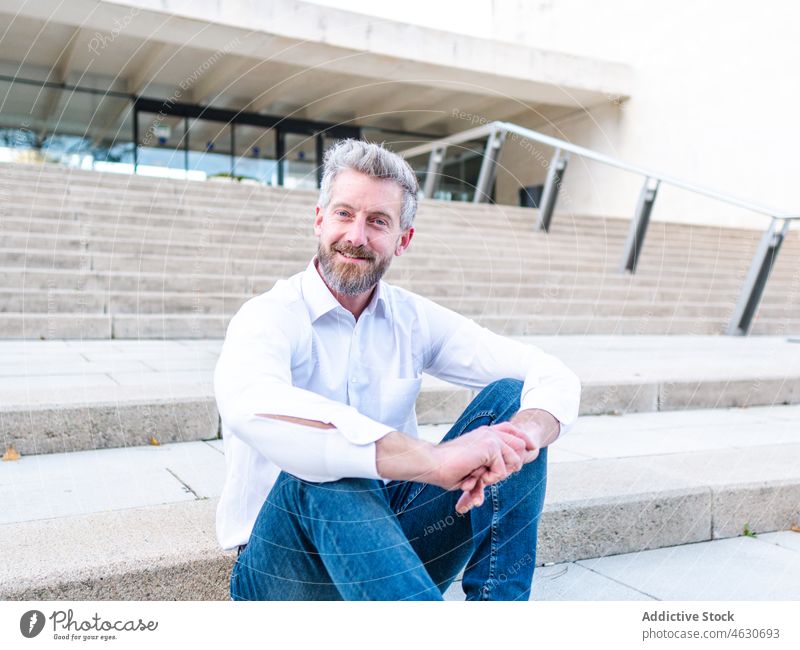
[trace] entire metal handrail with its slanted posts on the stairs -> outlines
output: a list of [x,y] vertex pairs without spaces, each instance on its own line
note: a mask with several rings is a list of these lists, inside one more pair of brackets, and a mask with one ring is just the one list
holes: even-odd
[[[487,124],[473,129],[462,131],[461,133],[406,149],[405,151],[401,151],[400,154],[405,158],[430,154],[425,187],[423,190],[423,195],[430,197],[435,194],[436,185],[441,177],[441,171],[445,162],[445,150],[447,147],[470,140],[487,138],[486,153],[484,154],[478,182],[475,186],[474,201],[480,203],[489,198],[490,188],[494,182],[500,148],[503,146],[503,142],[509,133],[555,149],[555,154],[548,166],[547,179],[543,187],[541,200],[539,201],[537,227],[539,230],[545,232],[547,232],[550,227],[550,221],[552,220],[555,210],[559,189],[569,160],[569,155],[564,155],[564,152],[566,152],[566,154],[574,154],[582,158],[588,158],[589,160],[594,160],[601,164],[616,167],[617,169],[622,169],[644,177],[644,185],[639,194],[636,211],[631,220],[628,237],[625,242],[622,263],[620,264],[620,271],[622,272],[636,272],[636,266],[650,222],[650,214],[652,213],[659,186],[662,183],[769,216],[769,227],[764,232],[758,248],[756,249],[756,253],[753,256],[753,261],[747,272],[744,286],[742,287],[739,299],[734,308],[730,323],[726,328],[727,334],[746,335],[749,333],[767,281],[775,266],[778,252],[788,234],[789,225],[792,221],[800,219],[800,214],[776,210],[755,201],[742,199],[715,189],[690,183],[674,176],[669,176],[668,174],[662,174],[646,167],[633,165],[623,160],[618,160],[617,158],[612,158],[611,156],[606,156],[605,154],[587,149],[586,147],[572,144],[566,140],[526,129],[525,127],[510,122],[488,122]],[[783,221],[783,226],[780,228],[778,227],[779,221]]]

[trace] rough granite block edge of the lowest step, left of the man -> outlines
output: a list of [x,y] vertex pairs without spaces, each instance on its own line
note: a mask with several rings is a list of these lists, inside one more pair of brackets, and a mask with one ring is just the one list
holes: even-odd
[[225,600],[216,501],[0,526],[4,600]]

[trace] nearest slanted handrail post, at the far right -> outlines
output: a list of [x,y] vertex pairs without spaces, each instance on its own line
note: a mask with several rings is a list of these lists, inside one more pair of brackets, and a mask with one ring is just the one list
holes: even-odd
[[747,336],[750,332],[753,318],[758,311],[761,297],[767,286],[767,280],[769,280],[772,268],[775,266],[778,251],[786,238],[790,223],[789,219],[785,219],[783,228],[778,230],[778,219],[773,217],[769,228],[761,237],[756,253],[753,256],[753,261],[747,271],[742,292],[739,294],[739,300],[733,310],[733,316],[728,324],[728,329],[725,331],[726,334]]

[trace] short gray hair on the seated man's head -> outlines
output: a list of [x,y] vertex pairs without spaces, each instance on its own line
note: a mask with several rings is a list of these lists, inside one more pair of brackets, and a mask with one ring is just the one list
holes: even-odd
[[403,207],[400,210],[400,228],[407,230],[417,214],[417,192],[419,183],[404,158],[384,149],[379,144],[364,140],[341,140],[325,152],[322,183],[319,190],[319,205],[326,208],[331,200],[331,188],[336,175],[353,169],[373,178],[395,181],[403,190]]

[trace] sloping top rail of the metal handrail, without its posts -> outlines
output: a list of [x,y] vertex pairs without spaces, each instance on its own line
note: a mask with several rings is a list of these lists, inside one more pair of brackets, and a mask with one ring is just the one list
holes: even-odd
[[590,160],[594,160],[604,165],[609,165],[624,171],[639,174],[640,176],[652,178],[667,185],[679,187],[683,190],[694,192],[695,194],[701,194],[711,199],[716,199],[717,201],[722,201],[740,208],[745,208],[746,210],[751,210],[752,212],[758,212],[759,214],[765,214],[777,219],[800,219],[800,213],[782,212],[755,201],[749,201],[747,199],[726,194],[709,187],[689,183],[683,179],[676,178],[668,174],[662,174],[661,172],[657,172],[646,167],[641,167],[639,165],[633,165],[625,162],[624,160],[606,156],[605,154],[598,153],[592,149],[587,149],[586,147],[581,147],[579,145],[572,144],[571,142],[567,142],[566,140],[561,140],[559,138],[545,135],[544,133],[539,133],[538,131],[532,131],[531,129],[527,129],[523,126],[512,124],[511,122],[488,122],[482,126],[475,127],[474,129],[461,131],[455,135],[447,136],[433,142],[427,142],[399,153],[404,158],[414,158],[426,153],[431,153],[434,149],[442,146],[448,147],[454,144],[461,144],[462,142],[469,142],[470,140],[477,140],[478,138],[486,137],[497,130],[502,130],[507,133],[516,133],[517,135],[521,135],[522,137],[533,140],[534,142],[539,142],[541,144],[553,147],[554,149],[568,151],[569,153],[575,154],[576,156],[581,156],[582,158],[589,158]]

